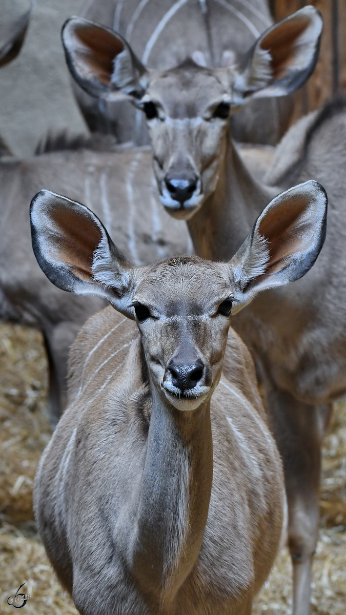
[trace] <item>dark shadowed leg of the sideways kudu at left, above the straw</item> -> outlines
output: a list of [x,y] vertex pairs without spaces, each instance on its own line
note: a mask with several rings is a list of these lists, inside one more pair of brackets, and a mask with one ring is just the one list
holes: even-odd
[[63,322],[44,331],[49,368],[47,414],[53,431],[66,406],[68,354],[79,328],[76,323]]

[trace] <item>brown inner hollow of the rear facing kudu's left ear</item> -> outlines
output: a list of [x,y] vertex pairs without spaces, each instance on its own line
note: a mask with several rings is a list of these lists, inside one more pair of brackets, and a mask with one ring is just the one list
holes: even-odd
[[76,61],[82,72],[96,74],[99,81],[109,85],[113,60],[123,51],[123,43],[108,30],[94,25],[76,26],[74,35],[83,47],[75,50]]

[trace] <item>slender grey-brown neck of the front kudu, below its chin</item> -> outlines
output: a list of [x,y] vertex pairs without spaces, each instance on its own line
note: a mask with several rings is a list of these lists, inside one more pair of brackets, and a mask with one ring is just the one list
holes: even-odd
[[152,383],[151,392],[133,569],[148,598],[169,607],[203,542],[212,487],[210,402],[179,411]]

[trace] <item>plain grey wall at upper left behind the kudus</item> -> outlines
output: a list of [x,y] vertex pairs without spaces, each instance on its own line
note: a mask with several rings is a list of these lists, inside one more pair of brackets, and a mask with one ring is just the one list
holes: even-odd
[[[87,133],[60,42],[63,22],[83,4],[36,0],[20,55],[0,70],[0,135],[16,156],[30,156],[48,130]],[[1,30],[29,6],[30,0],[1,0]]]

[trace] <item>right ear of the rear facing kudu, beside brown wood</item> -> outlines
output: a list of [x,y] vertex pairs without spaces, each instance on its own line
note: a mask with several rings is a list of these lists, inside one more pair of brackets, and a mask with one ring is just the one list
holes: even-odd
[[239,68],[235,102],[299,89],[315,68],[322,28],[320,11],[309,5],[265,31]]

